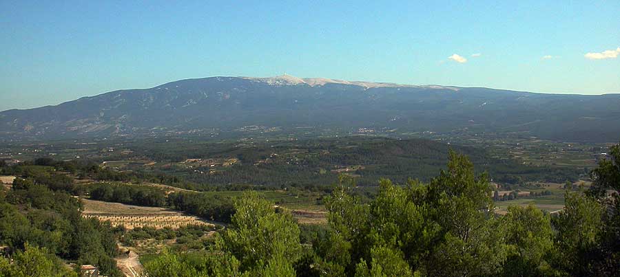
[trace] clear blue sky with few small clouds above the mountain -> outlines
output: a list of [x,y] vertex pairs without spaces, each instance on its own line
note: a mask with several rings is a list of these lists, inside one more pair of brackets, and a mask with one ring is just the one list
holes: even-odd
[[617,0],[333,2],[0,0],[0,110],[284,73],[620,93]]

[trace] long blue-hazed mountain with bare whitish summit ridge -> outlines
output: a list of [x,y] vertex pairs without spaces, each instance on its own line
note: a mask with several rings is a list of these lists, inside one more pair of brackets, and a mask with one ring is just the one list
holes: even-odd
[[327,78],[211,77],[0,112],[2,138],[232,131],[243,126],[521,132],[616,142],[620,94],[583,96]]

